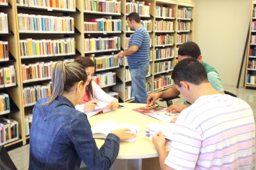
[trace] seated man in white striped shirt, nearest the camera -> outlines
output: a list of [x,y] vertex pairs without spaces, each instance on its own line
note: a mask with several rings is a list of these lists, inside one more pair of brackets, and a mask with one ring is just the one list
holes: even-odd
[[198,60],[181,60],[172,79],[192,105],[182,110],[173,127],[167,154],[162,132],[152,138],[161,170],[254,169],[255,122],[243,100],[216,91]]

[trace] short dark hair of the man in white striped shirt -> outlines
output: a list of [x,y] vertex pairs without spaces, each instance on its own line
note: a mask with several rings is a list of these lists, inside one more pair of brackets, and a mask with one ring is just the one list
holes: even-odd
[[172,79],[179,87],[180,81],[188,81],[193,85],[209,82],[204,66],[194,58],[180,60],[172,71]]

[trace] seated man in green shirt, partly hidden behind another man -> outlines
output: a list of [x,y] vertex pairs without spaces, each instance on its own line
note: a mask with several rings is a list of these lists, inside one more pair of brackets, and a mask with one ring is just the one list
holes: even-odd
[[[212,87],[220,92],[221,94],[224,94],[224,90],[222,87],[222,81],[221,78],[214,69],[214,67],[210,66],[206,62],[202,61],[202,55],[199,46],[192,42],[188,41],[186,43],[183,43],[180,45],[178,50],[178,61],[187,58],[194,58],[197,59],[206,69],[207,71],[207,78],[209,80],[209,83],[212,85]],[[147,104],[154,104],[154,102],[161,98],[170,98],[170,97],[177,97],[179,96],[180,92],[176,89],[176,87],[173,85],[169,89],[164,90],[163,92],[157,92],[155,94],[150,94],[147,97]],[[188,108],[191,104],[187,101],[184,101],[184,104],[172,104],[169,106],[166,111],[170,111],[172,113],[179,112],[184,110],[185,108]]]

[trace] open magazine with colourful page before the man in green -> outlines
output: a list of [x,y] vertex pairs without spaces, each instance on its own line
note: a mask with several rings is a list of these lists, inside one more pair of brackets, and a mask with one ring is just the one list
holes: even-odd
[[163,122],[175,122],[176,118],[179,116],[179,113],[167,112],[166,108],[157,104],[153,104],[150,106],[147,105],[133,110],[139,113],[143,113],[147,116],[157,118]]

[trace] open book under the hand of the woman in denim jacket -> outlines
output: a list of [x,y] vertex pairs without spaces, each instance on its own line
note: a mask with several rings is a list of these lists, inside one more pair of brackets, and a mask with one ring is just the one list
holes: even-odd
[[105,139],[110,131],[116,129],[130,129],[131,133],[136,134],[135,138],[132,139],[124,139],[121,141],[134,143],[140,134],[140,126],[132,125],[132,124],[116,124],[115,120],[106,120],[104,122],[100,122],[99,124],[95,124],[92,127],[92,135],[93,138],[101,138]]

